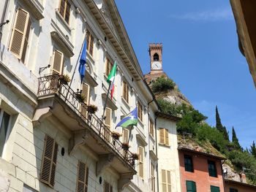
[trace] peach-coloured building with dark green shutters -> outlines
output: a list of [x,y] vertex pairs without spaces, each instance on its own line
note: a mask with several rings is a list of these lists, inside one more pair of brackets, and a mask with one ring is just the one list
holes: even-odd
[[182,192],[224,192],[222,160],[225,158],[178,147]]

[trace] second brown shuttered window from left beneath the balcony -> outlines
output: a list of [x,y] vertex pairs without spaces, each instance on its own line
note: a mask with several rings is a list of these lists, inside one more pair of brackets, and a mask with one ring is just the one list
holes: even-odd
[[78,161],[77,192],[87,192],[88,176],[89,176],[88,166],[86,166],[86,164],[83,164],[81,161]]

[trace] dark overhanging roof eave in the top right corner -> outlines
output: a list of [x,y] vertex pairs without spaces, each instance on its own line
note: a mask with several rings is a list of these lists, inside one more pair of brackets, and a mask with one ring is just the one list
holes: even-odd
[[250,0],[230,0],[236,20],[238,42],[241,53],[246,57],[249,72],[256,86],[256,2]]

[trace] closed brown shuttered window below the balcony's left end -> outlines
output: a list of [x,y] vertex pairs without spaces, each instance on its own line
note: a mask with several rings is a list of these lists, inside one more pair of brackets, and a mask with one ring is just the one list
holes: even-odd
[[53,188],[56,163],[58,154],[58,144],[56,141],[48,135],[45,135],[45,147],[42,153],[42,167],[40,180],[42,183],[49,185]]

